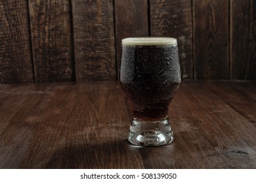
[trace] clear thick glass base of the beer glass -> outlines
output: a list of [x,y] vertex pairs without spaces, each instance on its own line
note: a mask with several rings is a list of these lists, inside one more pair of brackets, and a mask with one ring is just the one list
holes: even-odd
[[134,119],[130,125],[128,140],[137,146],[162,146],[174,139],[168,118],[157,122],[140,122]]

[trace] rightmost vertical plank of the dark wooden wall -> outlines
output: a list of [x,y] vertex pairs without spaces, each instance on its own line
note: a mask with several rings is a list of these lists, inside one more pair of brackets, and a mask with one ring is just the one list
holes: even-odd
[[255,0],[231,0],[231,79],[256,79]]

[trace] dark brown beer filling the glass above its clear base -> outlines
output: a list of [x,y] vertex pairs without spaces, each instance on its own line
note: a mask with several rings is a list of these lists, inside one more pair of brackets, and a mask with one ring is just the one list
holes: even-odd
[[180,83],[178,47],[161,39],[137,43],[122,43],[120,85],[136,120],[162,120]]

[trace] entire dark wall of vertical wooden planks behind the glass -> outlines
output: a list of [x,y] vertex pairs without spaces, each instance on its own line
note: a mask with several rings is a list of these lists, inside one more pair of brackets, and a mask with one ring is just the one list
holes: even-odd
[[182,79],[256,79],[255,0],[0,0],[0,83],[118,79],[121,38],[178,39]]

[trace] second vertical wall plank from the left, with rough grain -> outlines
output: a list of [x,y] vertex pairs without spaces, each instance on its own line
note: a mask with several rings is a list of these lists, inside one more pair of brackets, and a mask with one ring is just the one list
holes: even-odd
[[29,0],[35,82],[74,81],[69,0]]

